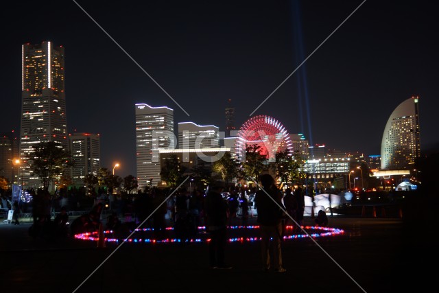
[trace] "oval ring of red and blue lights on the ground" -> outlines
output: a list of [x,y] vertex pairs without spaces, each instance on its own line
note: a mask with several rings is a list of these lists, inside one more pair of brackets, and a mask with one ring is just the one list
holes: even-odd
[[[240,230],[240,229],[258,229],[259,226],[230,226],[228,227],[230,230]],[[286,226],[286,230],[292,230],[293,226]],[[285,235],[283,237],[284,240],[292,240],[292,239],[300,239],[300,238],[306,238],[306,237],[326,237],[326,236],[335,236],[340,235],[344,233],[344,230],[339,228],[330,228],[330,227],[322,227],[322,226],[302,226],[305,231],[307,231],[308,235],[306,233],[302,234],[291,234],[291,235]],[[173,227],[167,227],[165,228],[167,231],[174,230]],[[199,226],[198,231],[205,231],[205,226]],[[152,232],[154,231],[154,228],[141,228],[136,229],[136,232]],[[314,231],[314,232],[313,232]],[[104,234],[113,234],[113,231],[104,231]],[[135,235],[135,233],[133,234]],[[99,240],[99,232],[87,232],[87,233],[80,233],[75,235],[76,239],[81,240],[89,240],[89,241],[98,241]],[[192,238],[187,239],[184,242],[209,242],[210,238]],[[261,237],[233,237],[229,238],[228,242],[254,242],[261,240]],[[106,242],[115,242],[119,244],[119,242],[130,242],[130,243],[171,243],[171,242],[182,242],[181,239],[178,238],[166,238],[166,239],[152,239],[152,238],[130,238],[130,239],[116,239],[116,238],[110,238],[105,237]]]

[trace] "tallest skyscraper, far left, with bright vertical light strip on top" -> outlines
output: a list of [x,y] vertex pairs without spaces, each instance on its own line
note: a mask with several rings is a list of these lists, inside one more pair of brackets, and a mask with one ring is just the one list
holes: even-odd
[[29,167],[32,146],[56,141],[68,148],[64,95],[64,48],[50,41],[21,47],[21,178],[38,187],[40,178]]

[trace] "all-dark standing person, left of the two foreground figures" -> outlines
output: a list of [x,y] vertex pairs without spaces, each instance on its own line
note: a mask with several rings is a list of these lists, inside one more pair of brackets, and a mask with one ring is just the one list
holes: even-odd
[[209,263],[211,268],[230,269],[232,267],[224,262],[227,244],[227,202],[221,195],[223,189],[224,183],[213,183],[204,200],[207,229],[211,236]]

